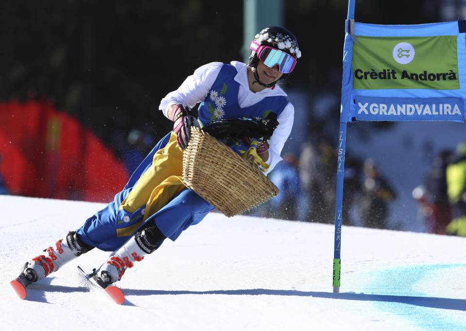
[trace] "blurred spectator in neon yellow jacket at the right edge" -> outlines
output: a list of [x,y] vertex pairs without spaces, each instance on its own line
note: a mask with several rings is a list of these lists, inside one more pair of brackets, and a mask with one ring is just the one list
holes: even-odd
[[453,220],[447,233],[466,237],[466,142],[456,146],[456,158],[447,166],[447,192]]

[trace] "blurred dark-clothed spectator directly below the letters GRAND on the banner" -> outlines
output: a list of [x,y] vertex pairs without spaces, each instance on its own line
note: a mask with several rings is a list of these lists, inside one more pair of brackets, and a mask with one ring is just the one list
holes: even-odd
[[388,202],[396,194],[377,169],[373,159],[364,162],[364,182],[360,200],[361,221],[364,227],[386,228]]

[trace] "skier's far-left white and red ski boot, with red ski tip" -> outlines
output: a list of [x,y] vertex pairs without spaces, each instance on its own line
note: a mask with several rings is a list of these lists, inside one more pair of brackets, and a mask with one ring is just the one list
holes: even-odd
[[47,255],[38,255],[32,261],[26,262],[17,278],[10,281],[10,284],[18,296],[23,299],[26,297],[27,286],[44,279],[92,248],[94,247],[84,244],[76,235],[76,232],[68,232],[65,241],[60,239],[55,243],[55,247],[44,249]]

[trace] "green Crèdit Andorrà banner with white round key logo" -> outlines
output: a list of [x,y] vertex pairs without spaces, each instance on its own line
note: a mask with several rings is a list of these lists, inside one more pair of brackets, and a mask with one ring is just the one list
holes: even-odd
[[354,89],[460,88],[456,36],[356,38]]

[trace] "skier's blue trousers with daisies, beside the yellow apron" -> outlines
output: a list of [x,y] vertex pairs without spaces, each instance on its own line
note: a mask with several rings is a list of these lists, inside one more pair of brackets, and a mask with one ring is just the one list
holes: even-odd
[[[115,199],[104,209],[88,218],[82,227],[76,232],[80,235],[84,243],[92,245],[101,250],[114,251],[123,246],[126,241],[141,227],[149,222],[155,222],[160,231],[171,240],[176,240],[178,236],[189,226],[198,224],[214,207],[200,198],[193,191],[184,188],[177,193],[168,203],[155,214],[150,215],[145,222],[137,228],[132,229],[133,224],[137,224],[144,215],[144,206],[128,216],[126,211],[120,210],[119,206],[128,196],[137,183],[141,175],[152,165],[152,159],[156,151],[166,146],[170,139],[170,133],[162,138],[150,151],[144,161],[134,170],[130,180],[121,192],[118,192]],[[124,217],[128,216],[128,217]],[[123,221],[122,221],[123,220]],[[126,223],[128,220],[128,223]],[[128,235],[118,235],[118,230],[126,228],[132,229]]]

